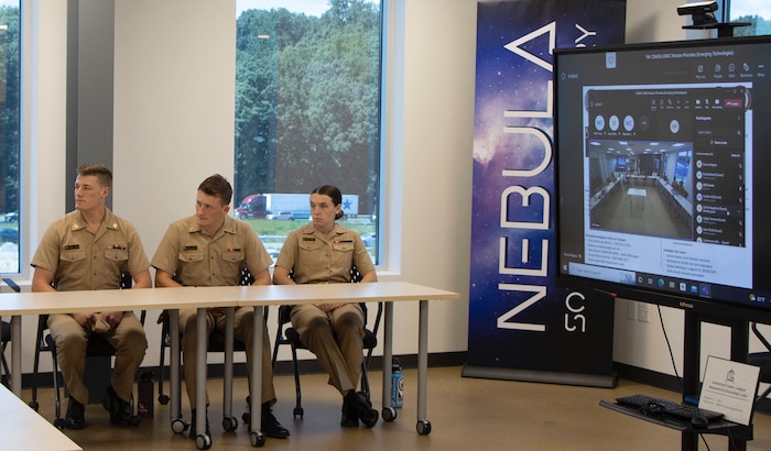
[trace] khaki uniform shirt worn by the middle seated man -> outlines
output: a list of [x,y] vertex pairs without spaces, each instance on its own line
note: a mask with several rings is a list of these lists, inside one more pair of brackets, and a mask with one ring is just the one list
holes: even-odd
[[259,274],[273,264],[262,241],[246,222],[225,217],[211,237],[195,216],[169,226],[153,255],[152,265],[175,275],[182,285],[239,285],[241,271]]

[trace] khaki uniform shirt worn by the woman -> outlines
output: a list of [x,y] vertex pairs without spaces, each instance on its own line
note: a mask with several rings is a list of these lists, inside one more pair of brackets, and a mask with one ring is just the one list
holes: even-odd
[[347,283],[352,266],[362,275],[374,271],[361,237],[337,223],[326,237],[313,224],[293,230],[275,264],[293,272],[297,284]]

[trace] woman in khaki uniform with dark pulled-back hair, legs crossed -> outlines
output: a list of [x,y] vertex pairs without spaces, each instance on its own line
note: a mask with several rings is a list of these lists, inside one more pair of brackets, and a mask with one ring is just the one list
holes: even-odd
[[[349,283],[354,266],[362,283],[378,280],[361,237],[335,222],[343,217],[341,202],[343,195],[335,186],[313,190],[313,222],[286,237],[273,270],[274,284]],[[363,360],[363,326],[358,304],[300,305],[292,309],[292,327],[300,340],[316,354],[329,374],[329,384],[343,395],[344,427],[356,427],[361,420],[371,428],[378,422],[378,411],[356,391]]]

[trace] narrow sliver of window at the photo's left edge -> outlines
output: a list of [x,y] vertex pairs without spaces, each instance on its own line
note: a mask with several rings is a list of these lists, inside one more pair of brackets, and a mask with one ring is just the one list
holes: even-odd
[[0,1],[0,273],[18,274],[20,260],[20,1]]

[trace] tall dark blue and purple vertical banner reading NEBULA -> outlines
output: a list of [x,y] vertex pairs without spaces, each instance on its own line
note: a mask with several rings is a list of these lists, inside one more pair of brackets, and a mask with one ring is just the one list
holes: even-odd
[[613,386],[613,302],[554,285],[552,51],[623,43],[625,0],[479,2],[463,375]]

